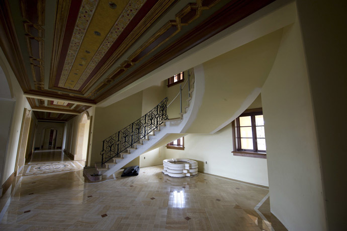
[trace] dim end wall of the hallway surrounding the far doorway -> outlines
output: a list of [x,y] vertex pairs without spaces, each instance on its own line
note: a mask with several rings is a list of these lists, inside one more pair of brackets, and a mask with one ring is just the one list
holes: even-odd
[[35,137],[35,148],[41,148],[42,142],[46,140],[44,143],[44,147],[48,146],[48,138],[49,134],[45,137],[45,129],[46,128],[54,128],[57,129],[56,133],[56,147],[61,147],[63,143],[63,134],[64,134],[65,123],[58,122],[47,122],[47,121],[38,121],[37,122],[37,132]]

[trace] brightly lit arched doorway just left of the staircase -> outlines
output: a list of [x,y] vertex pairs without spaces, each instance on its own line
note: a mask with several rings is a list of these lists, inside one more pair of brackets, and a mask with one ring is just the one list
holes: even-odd
[[78,126],[77,145],[75,160],[83,160],[88,164],[89,159],[89,141],[90,141],[90,123],[91,117],[87,111],[82,113]]

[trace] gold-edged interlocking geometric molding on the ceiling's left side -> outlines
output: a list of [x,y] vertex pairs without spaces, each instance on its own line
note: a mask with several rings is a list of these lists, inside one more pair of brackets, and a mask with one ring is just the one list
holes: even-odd
[[[36,4],[36,7],[33,5]],[[44,89],[45,0],[20,0],[23,24],[35,88]]]

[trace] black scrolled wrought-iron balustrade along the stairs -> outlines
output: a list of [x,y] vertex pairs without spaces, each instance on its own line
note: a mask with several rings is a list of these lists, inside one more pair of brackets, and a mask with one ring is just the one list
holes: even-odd
[[117,157],[127,148],[132,147],[132,145],[144,138],[153,129],[157,129],[158,125],[162,124],[168,118],[166,114],[166,102],[167,97],[147,114],[106,138],[103,141],[103,150],[100,153],[102,156],[101,165],[103,166],[103,164]]

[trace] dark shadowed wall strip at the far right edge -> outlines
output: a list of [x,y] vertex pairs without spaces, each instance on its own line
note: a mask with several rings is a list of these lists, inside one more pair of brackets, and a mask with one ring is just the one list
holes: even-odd
[[297,1],[323,176],[327,229],[343,230],[347,179],[347,1]]

